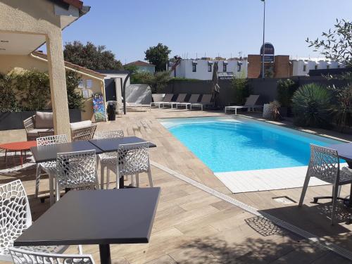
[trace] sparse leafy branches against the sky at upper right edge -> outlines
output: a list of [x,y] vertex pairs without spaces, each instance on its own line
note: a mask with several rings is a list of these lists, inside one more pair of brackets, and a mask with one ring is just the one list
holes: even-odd
[[352,22],[344,19],[336,21],[333,30],[322,32],[321,39],[307,38],[306,42],[326,58],[344,63],[346,67],[352,67]]

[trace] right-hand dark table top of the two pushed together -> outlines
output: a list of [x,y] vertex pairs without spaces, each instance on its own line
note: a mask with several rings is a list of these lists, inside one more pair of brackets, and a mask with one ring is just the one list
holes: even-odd
[[[146,142],[139,137],[117,137],[113,139],[90,139],[89,142],[101,149],[103,152],[117,151],[120,144],[134,144]],[[154,148],[156,144],[149,142],[149,147]]]

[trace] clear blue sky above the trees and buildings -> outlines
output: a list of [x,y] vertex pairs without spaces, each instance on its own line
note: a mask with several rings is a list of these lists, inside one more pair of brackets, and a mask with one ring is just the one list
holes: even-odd
[[[265,42],[276,55],[322,56],[308,48],[336,18],[351,20],[352,0],[265,0]],[[86,15],[63,30],[63,42],[93,42],[122,64],[144,60],[159,42],[170,56],[225,58],[258,54],[263,43],[260,0],[84,0]]]

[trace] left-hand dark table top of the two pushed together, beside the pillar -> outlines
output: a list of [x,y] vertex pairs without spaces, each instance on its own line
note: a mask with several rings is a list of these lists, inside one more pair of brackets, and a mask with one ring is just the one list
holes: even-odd
[[36,163],[41,163],[44,161],[55,161],[57,154],[61,152],[88,151],[91,149],[94,149],[96,154],[103,153],[101,149],[97,148],[88,141],[77,141],[47,146],[34,146],[30,148]]

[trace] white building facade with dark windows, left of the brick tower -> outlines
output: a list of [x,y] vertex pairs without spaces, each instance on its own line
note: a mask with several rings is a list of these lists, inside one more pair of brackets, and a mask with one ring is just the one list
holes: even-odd
[[[228,60],[184,59],[170,74],[172,77],[212,80],[215,62],[218,62],[220,78],[247,77],[248,61],[246,58],[231,58]],[[171,68],[172,63],[169,63],[168,70],[171,70]]]

